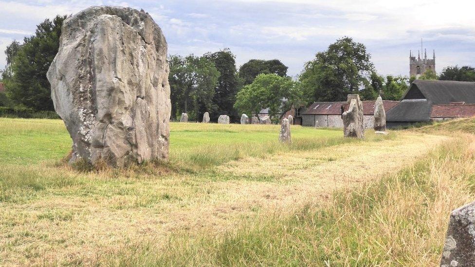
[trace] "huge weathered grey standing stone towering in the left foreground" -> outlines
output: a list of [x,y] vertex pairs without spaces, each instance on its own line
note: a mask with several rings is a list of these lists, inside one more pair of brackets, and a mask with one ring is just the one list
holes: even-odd
[[63,22],[47,77],[71,138],[71,163],[168,158],[167,44],[145,11],[95,6]]

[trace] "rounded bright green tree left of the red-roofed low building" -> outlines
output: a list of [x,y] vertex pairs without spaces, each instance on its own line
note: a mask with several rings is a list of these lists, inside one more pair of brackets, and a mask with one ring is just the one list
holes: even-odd
[[289,110],[299,103],[301,93],[290,77],[277,74],[259,74],[254,82],[244,86],[237,93],[234,107],[249,115],[259,113],[263,108],[269,108],[269,116],[277,118],[277,114]]

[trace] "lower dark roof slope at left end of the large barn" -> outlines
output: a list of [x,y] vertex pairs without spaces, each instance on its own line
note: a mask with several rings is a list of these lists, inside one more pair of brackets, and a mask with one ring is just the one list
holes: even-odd
[[432,103],[426,99],[403,99],[386,113],[388,122],[428,122]]

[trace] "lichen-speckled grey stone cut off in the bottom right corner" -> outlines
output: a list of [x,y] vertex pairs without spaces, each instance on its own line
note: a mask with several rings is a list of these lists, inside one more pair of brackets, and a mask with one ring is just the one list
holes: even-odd
[[440,266],[475,266],[475,202],[450,214]]

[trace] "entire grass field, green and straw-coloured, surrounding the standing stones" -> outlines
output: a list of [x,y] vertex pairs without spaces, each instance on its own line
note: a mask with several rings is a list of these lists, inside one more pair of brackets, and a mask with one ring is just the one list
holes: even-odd
[[475,193],[475,123],[444,125],[176,123],[169,163],[87,172],[61,121],[0,119],[0,265],[435,266]]

